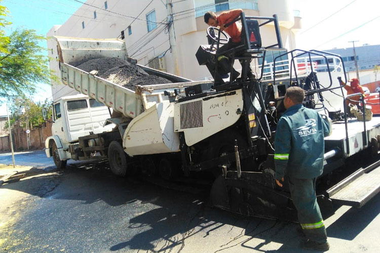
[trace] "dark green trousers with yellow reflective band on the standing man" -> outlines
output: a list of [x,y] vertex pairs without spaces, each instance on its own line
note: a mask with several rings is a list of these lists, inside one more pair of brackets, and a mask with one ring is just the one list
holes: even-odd
[[290,194],[298,213],[298,221],[306,237],[319,243],[327,242],[326,228],[317,196],[315,193],[316,179],[299,179],[289,177]]

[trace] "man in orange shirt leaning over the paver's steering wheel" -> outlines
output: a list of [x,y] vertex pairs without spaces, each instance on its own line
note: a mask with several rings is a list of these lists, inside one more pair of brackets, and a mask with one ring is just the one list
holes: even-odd
[[[242,13],[242,9],[235,9],[235,10],[230,10],[230,11],[225,11],[220,13],[219,15],[216,15],[214,12],[206,12],[204,19],[205,23],[208,24],[209,26],[213,27],[220,27],[219,29],[221,31],[225,31],[227,34],[230,35],[230,39],[227,42],[227,44],[223,45],[222,47],[219,48],[218,53],[225,52],[227,50],[230,50],[232,48],[235,48],[237,46],[241,45],[241,32],[242,32],[242,26],[240,23],[235,22],[227,27],[225,27],[225,24],[230,23],[234,21],[236,18],[240,16],[240,13]],[[228,72],[230,70],[230,59],[227,58],[226,56],[222,55],[218,57],[218,62],[219,64]],[[245,64],[248,64],[248,72],[247,76],[248,78],[253,78],[255,75],[252,73],[252,69],[250,66],[250,61],[240,61],[240,64],[242,65],[243,69]],[[235,80],[240,73],[233,69],[233,80]]]

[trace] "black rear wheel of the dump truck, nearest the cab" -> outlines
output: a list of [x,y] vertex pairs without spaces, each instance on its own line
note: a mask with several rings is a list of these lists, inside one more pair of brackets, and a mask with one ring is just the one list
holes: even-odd
[[108,146],[108,162],[114,175],[127,176],[127,156],[122,145],[117,141],[112,141]]

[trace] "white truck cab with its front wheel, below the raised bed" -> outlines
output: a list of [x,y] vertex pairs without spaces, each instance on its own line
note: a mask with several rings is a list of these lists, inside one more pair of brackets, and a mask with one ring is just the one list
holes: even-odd
[[103,103],[85,95],[59,98],[53,102],[52,136],[45,142],[48,157],[53,157],[58,168],[72,158],[69,145],[78,144],[79,137],[111,131],[115,125],[105,121],[110,110]]

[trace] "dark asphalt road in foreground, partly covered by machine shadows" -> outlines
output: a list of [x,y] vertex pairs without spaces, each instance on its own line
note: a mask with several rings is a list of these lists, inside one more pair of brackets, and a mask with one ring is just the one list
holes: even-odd
[[[40,151],[16,157],[43,163]],[[329,252],[378,252],[379,200],[361,209],[336,206],[325,220]],[[231,214],[206,202],[202,191],[116,178],[107,162],[50,167],[1,186],[0,252],[310,252],[299,249],[296,224]]]

